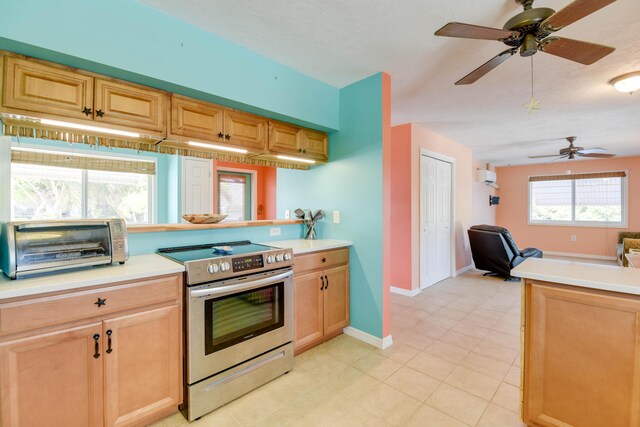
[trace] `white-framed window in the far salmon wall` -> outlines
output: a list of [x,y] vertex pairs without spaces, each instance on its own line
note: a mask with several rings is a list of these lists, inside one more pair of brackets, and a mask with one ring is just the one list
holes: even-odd
[[626,172],[529,178],[529,223],[625,227]]

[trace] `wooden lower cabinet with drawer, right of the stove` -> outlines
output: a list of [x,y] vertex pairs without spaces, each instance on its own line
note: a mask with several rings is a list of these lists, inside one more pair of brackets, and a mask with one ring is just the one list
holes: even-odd
[[301,266],[294,266],[293,277],[295,350],[301,353],[349,325],[348,249],[296,256],[295,265]]

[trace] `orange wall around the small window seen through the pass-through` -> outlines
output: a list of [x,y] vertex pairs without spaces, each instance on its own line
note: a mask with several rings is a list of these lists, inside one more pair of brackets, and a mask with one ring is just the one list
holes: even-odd
[[269,166],[245,165],[213,160],[213,211],[218,212],[218,168],[236,168],[256,171],[256,199],[258,214],[256,219],[276,218],[276,168]]

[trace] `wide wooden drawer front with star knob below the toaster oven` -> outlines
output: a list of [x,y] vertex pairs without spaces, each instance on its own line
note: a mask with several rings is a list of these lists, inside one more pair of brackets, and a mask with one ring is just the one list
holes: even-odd
[[177,301],[180,283],[175,275],[0,304],[0,335]]

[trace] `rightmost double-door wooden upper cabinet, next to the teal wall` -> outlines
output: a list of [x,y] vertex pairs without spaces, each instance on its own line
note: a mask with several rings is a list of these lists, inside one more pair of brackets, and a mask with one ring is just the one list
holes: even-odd
[[326,162],[327,134],[288,123],[269,121],[269,152]]

